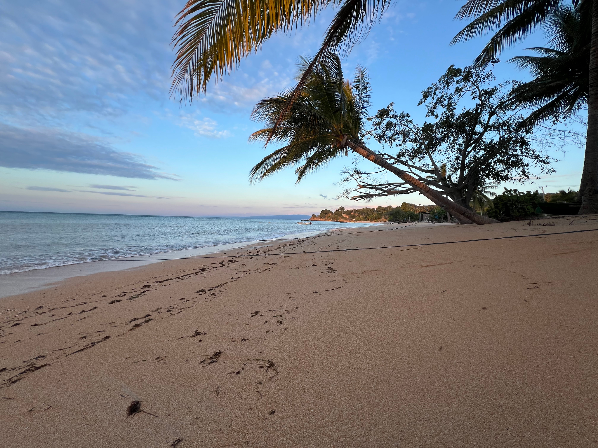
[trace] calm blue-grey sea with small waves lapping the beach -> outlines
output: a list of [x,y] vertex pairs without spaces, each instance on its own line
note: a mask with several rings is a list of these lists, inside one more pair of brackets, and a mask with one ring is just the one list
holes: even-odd
[[0,211],[0,275],[364,225],[368,224],[304,226],[288,219]]

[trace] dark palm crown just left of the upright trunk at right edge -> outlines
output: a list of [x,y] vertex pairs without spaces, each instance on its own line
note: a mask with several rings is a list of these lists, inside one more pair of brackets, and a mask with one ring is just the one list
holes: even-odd
[[511,106],[527,106],[533,112],[523,125],[570,115],[588,100],[590,88],[590,17],[570,7],[559,7],[548,16],[547,36],[551,47],[527,48],[539,56],[516,56],[510,59],[521,69],[529,69],[532,81],[515,87]]

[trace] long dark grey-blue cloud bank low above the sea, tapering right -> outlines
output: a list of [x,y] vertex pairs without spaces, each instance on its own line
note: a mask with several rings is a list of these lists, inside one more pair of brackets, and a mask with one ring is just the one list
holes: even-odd
[[0,123],[0,166],[28,170],[171,179],[130,152],[118,152],[88,134],[26,129]]

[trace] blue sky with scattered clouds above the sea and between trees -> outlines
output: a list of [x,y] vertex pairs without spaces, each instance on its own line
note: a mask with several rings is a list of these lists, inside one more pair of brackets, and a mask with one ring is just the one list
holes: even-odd
[[[169,96],[169,44],[183,0],[0,4],[0,210],[251,216],[429,203],[415,194],[336,200],[351,157],[300,185],[292,170],[249,185],[250,168],[266,154],[247,143],[260,128],[249,112],[291,84],[297,57],[317,50],[332,10],[274,36],[201,99],[181,105]],[[461,4],[398,1],[344,60],[347,75],[357,64],[370,70],[372,113],[394,102],[423,118],[421,91],[449,65],[471,63],[484,39],[449,46],[463,26],[453,20]],[[542,44],[538,33],[501,59]],[[507,63],[495,73],[526,77]],[[582,150],[555,157],[557,173],[524,188],[578,188]]]

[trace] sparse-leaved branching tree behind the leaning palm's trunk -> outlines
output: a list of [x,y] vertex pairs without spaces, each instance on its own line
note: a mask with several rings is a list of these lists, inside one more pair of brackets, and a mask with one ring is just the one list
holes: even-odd
[[[422,93],[419,105],[425,106],[429,121],[417,124],[391,103],[370,118],[370,133],[396,151],[384,155],[389,163],[471,210],[476,191],[487,183],[523,182],[536,170],[554,172],[552,159],[520,126],[523,116],[505,107],[512,85],[496,84],[487,67],[450,66]],[[405,183],[375,182],[375,174],[348,171],[345,180],[358,183],[353,191],[359,195],[353,199],[413,192]]]

